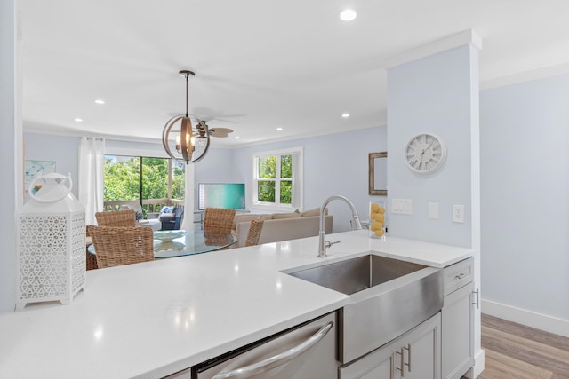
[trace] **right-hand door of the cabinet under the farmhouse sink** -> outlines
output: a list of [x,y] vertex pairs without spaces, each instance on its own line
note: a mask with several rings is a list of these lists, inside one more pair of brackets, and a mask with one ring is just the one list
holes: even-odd
[[[397,377],[405,379],[439,379],[441,377],[441,314],[431,317],[410,331],[397,354]],[[403,371],[402,371],[403,368]]]

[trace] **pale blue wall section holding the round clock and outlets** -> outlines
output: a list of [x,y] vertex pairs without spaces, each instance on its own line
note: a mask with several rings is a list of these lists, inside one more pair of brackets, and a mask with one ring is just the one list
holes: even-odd
[[[389,235],[472,246],[471,133],[477,130],[477,54],[465,45],[389,69],[389,199],[411,199],[412,214],[389,212]],[[474,95],[473,95],[474,94]],[[444,166],[424,177],[405,166],[409,139],[437,134],[447,146]],[[429,202],[439,219],[429,219]],[[465,223],[453,223],[454,204],[464,205]],[[477,209],[475,209],[477,214]]]

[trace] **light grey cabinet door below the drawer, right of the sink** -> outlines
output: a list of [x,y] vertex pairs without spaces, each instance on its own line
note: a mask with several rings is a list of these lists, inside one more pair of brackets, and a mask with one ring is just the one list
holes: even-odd
[[445,296],[443,305],[443,378],[461,378],[474,364],[474,283]]

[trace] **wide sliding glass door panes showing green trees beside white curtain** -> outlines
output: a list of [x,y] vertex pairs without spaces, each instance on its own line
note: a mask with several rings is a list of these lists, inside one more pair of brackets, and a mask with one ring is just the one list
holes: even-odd
[[161,203],[184,200],[185,165],[165,158],[105,155],[103,199]]

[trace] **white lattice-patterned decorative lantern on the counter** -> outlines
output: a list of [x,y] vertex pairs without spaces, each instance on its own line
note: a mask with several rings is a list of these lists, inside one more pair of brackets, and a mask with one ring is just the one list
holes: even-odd
[[[67,186],[66,186],[67,183]],[[33,193],[35,185],[41,185]],[[69,304],[85,283],[85,209],[58,173],[38,176],[18,217],[18,298],[28,303]]]

